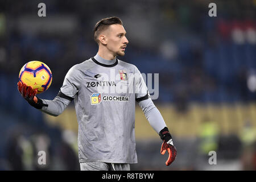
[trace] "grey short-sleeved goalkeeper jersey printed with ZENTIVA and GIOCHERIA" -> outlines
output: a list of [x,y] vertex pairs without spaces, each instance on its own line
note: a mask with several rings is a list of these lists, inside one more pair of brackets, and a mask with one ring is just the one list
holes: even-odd
[[79,162],[137,163],[135,101],[149,97],[137,67],[96,55],[69,69],[60,91],[75,101]]

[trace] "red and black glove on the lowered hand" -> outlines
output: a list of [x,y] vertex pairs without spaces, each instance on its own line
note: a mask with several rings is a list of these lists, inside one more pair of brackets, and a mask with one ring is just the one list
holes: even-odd
[[168,151],[169,156],[166,160],[166,166],[169,166],[176,159],[176,147],[172,142],[172,136],[167,127],[164,127],[164,129],[160,131],[159,135],[160,138],[163,140],[160,153],[164,155],[166,153],[166,150]]

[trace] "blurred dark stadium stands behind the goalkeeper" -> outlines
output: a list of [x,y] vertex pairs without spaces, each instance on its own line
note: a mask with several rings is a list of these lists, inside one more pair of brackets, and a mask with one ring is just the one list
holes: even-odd
[[[208,16],[211,2],[217,17]],[[0,169],[79,170],[75,107],[42,114],[20,97],[18,73],[29,60],[46,63],[53,81],[39,97],[52,100],[68,69],[96,54],[94,24],[115,15],[130,42],[119,59],[159,73],[154,103],[178,151],[166,167],[162,142],[137,105],[138,164],[131,169],[255,170],[255,13],[255,0],[0,0]],[[38,165],[40,150],[47,165]],[[217,165],[209,165],[209,151]]]

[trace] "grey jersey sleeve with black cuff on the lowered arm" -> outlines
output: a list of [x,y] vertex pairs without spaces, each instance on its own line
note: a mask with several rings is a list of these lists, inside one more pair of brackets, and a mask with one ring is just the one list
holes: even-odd
[[135,67],[135,100],[141,102],[150,98],[147,85],[141,75],[141,72]]

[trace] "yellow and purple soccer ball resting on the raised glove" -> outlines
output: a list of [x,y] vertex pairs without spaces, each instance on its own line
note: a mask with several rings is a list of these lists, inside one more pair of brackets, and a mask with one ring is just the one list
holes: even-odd
[[31,86],[33,90],[38,89],[38,93],[43,93],[52,83],[52,72],[41,61],[30,61],[20,69],[19,81]]

